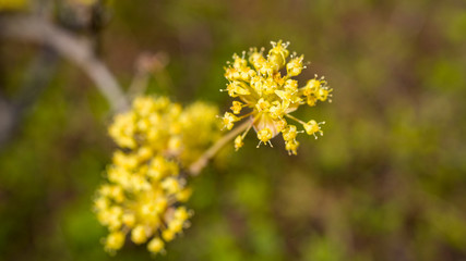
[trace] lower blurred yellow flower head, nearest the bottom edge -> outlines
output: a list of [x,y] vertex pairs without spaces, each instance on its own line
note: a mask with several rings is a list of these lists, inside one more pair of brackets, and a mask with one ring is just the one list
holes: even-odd
[[[109,181],[97,190],[94,204],[98,221],[110,233],[105,239],[106,250],[120,249],[127,234],[138,245],[160,237],[167,241],[174,239],[189,226],[191,215],[182,206],[191,189],[178,164],[162,156],[140,160],[135,153],[116,153],[119,157],[113,157],[113,164],[107,171]],[[135,165],[122,164],[126,160],[119,159],[132,157],[136,158]],[[180,212],[184,214],[177,214]],[[163,236],[167,233],[171,234],[168,239]],[[154,245],[147,246],[152,252],[163,250]]]

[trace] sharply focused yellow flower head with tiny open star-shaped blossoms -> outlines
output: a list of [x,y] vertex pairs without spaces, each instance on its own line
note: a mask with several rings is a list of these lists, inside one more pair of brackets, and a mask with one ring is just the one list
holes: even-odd
[[[320,125],[324,122],[303,122],[289,113],[301,104],[313,107],[318,101],[327,100],[332,96],[332,89],[323,77],[318,78],[316,75],[303,87],[299,87],[298,80],[292,77],[306,69],[303,55],[290,55],[288,44],[282,40],[272,42],[272,46],[265,57],[263,48],[251,49],[248,60],[244,58],[246,52],[242,57],[234,54],[234,61],[225,67],[225,77],[229,83],[224,91],[239,100],[232,102],[231,112],[224,114],[223,124],[225,128],[231,129],[238,121],[250,121],[248,129],[235,139],[237,150],[242,147],[244,136],[253,126],[260,140],[258,147],[262,142],[272,146],[270,140],[282,133],[286,150],[296,154],[299,146],[296,136],[306,132],[316,138],[315,134],[323,134]],[[243,109],[249,111],[240,115]],[[303,130],[288,124],[287,119],[297,121],[303,126]]]

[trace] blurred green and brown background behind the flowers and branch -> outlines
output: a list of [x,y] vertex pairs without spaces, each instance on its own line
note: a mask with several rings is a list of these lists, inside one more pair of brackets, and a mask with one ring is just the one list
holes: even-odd
[[[141,53],[162,53],[147,92],[183,103],[229,107],[225,62],[278,39],[311,61],[301,80],[334,88],[297,113],[326,121],[297,157],[250,135],[192,178],[192,227],[155,260],[466,260],[465,1],[95,4],[0,0],[0,16],[40,14],[94,39],[126,87]],[[2,124],[17,122],[0,147],[0,260],[152,260],[100,245],[92,199],[115,145],[93,82],[47,48],[0,39],[0,91]]]

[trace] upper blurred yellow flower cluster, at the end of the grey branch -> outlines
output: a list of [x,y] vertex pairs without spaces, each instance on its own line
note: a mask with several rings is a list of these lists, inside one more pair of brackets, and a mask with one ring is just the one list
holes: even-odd
[[183,110],[166,97],[140,97],[131,111],[115,117],[109,134],[123,149],[142,150],[142,154],[152,151],[188,166],[219,137],[217,112],[203,102]]

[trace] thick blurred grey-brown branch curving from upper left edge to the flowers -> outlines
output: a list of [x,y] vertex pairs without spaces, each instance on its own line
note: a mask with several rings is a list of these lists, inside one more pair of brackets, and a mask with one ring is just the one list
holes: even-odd
[[89,42],[53,24],[32,16],[0,17],[0,36],[47,45],[80,66],[94,80],[113,111],[129,108],[124,92],[107,66],[98,60]]

